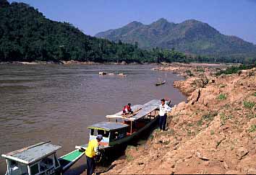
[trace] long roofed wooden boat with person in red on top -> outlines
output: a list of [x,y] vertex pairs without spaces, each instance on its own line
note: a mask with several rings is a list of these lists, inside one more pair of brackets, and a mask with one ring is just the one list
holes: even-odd
[[[104,151],[127,145],[130,140],[140,135],[158,120],[160,104],[160,100],[153,99],[143,105],[134,105],[132,110],[138,112],[129,117],[122,115],[122,111],[114,115],[107,115],[108,122],[99,122],[88,126],[90,130],[89,140],[95,139],[99,134],[103,135],[100,149]],[[85,151],[87,147],[88,144],[79,145],[75,148]]]

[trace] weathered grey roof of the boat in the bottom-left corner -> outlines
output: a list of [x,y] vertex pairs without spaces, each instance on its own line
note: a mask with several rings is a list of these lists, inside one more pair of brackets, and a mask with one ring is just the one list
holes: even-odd
[[1,156],[13,161],[32,164],[46,156],[51,155],[52,153],[55,153],[60,148],[61,146],[59,145],[44,142],[31,145],[30,147],[22,148],[17,151],[12,151],[11,153],[2,154]]

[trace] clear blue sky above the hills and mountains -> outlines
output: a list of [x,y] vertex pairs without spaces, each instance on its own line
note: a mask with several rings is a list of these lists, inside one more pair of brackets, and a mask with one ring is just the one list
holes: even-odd
[[16,1],[34,6],[48,19],[69,22],[87,35],[116,29],[132,21],[150,24],[160,18],[175,23],[197,19],[224,35],[236,35],[256,44],[256,0]]

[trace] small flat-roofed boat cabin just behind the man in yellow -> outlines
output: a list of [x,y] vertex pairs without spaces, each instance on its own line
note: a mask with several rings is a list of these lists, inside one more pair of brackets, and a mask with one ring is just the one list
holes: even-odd
[[88,129],[90,129],[90,140],[102,135],[103,140],[100,145],[108,147],[127,136],[128,125],[119,122],[98,122],[88,126]]

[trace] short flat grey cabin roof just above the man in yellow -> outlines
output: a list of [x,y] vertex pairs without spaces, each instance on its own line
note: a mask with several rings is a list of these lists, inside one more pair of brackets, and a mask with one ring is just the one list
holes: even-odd
[[88,126],[89,129],[117,130],[123,127],[128,127],[126,124],[119,122],[98,122]]

